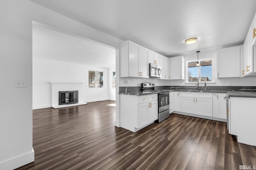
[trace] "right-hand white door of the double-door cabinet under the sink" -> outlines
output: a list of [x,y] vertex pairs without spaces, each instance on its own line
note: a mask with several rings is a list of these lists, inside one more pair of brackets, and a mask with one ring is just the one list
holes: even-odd
[[212,99],[196,98],[196,114],[212,117]]

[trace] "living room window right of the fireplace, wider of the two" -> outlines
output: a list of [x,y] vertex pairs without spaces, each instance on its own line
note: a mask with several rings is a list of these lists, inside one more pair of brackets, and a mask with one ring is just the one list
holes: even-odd
[[89,88],[104,88],[104,72],[89,70]]

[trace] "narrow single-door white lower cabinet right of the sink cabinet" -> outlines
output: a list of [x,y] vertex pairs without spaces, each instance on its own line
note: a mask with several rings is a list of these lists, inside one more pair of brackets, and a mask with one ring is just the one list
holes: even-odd
[[212,94],[212,117],[227,119],[226,99],[224,99],[226,95],[226,93]]

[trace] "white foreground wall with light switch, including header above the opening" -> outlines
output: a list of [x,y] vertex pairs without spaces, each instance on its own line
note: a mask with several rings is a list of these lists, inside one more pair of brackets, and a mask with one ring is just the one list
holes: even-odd
[[[116,48],[122,40],[28,0],[1,0],[0,16],[0,169],[10,170],[34,160],[32,21]],[[14,88],[16,79],[27,80],[27,88]]]

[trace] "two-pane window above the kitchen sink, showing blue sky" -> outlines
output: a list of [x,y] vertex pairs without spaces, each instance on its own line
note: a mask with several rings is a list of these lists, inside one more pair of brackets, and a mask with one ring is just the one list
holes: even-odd
[[198,63],[200,66],[196,66],[197,60],[187,61],[187,83],[198,82],[214,82],[214,67],[213,59],[200,59]]

